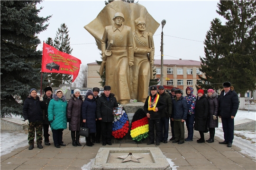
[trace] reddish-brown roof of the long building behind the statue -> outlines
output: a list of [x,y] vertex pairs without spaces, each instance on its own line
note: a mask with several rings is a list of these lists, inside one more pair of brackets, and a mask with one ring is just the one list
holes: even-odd
[[[92,62],[88,63],[88,65],[97,65],[97,63]],[[154,65],[161,65],[161,59],[155,59]],[[201,61],[191,59],[164,59],[164,65],[201,66]]]

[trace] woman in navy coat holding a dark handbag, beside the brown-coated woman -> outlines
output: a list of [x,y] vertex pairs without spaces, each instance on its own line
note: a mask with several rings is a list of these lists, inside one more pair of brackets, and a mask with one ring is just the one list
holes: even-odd
[[86,124],[86,127],[89,128],[89,136],[85,137],[86,145],[92,146],[94,144],[91,143],[91,136],[96,133],[96,102],[91,89],[87,91],[85,97],[82,103],[82,122],[83,127]]

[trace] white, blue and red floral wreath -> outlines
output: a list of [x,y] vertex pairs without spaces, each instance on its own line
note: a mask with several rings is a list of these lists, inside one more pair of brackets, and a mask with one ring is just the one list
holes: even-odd
[[[122,107],[122,105],[119,104],[118,107]],[[128,130],[129,130],[128,116],[125,110],[123,110],[122,114],[118,116],[114,115],[112,136],[118,139],[123,138],[128,133]]]

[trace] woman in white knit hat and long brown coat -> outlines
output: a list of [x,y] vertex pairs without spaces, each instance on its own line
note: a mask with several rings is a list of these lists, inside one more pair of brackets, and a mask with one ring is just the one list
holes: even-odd
[[74,89],[71,94],[71,99],[67,105],[67,119],[69,130],[71,130],[71,138],[73,146],[82,146],[79,143],[80,136],[78,135],[80,127],[82,126],[82,96],[79,89]]

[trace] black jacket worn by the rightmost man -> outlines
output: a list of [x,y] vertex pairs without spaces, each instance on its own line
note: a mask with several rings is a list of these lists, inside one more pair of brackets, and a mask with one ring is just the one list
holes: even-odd
[[229,92],[225,94],[225,96],[223,89],[219,95],[219,115],[223,118],[236,116],[238,106],[238,94],[234,91],[234,87],[231,86]]

